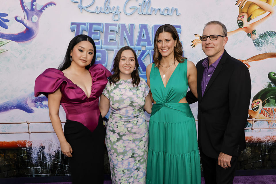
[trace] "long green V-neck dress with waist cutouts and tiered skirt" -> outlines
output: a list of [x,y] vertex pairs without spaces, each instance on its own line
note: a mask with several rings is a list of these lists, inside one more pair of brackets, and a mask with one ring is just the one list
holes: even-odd
[[149,123],[147,184],[201,182],[195,119],[189,104],[178,103],[187,89],[187,60],[177,65],[166,88],[152,64],[150,90],[156,104]]

